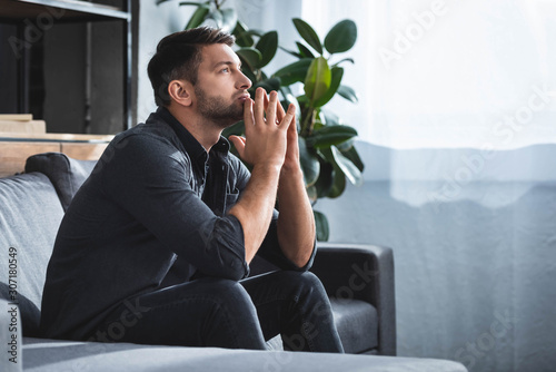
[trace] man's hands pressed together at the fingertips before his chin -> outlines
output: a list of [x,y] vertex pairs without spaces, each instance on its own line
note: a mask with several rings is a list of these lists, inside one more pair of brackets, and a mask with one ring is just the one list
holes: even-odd
[[296,107],[285,111],[278,94],[269,96],[262,88],[255,92],[255,101],[244,104],[245,137],[230,136],[240,158],[248,164],[287,169],[299,168],[299,145],[296,127]]

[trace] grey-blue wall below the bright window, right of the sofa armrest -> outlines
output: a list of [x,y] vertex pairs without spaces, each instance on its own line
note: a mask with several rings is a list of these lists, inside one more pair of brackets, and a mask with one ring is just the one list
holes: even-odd
[[554,371],[556,146],[356,146],[364,185],[316,209],[330,241],[393,247],[398,354]]

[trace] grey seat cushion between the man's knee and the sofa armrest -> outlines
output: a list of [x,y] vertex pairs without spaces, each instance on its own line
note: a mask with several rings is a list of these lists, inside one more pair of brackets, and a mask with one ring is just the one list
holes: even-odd
[[330,298],[334,322],[346,353],[366,353],[378,346],[377,311],[359,300]]

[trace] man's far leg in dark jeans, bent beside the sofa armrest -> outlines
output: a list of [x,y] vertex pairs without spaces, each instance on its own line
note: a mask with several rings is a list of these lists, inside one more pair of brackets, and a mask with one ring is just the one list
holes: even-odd
[[266,340],[281,334],[285,350],[344,352],[330,302],[315,274],[278,271],[240,283],[257,307]]

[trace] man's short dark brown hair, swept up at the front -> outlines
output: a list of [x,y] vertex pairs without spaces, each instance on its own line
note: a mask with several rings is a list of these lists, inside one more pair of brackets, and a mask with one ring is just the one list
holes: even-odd
[[160,40],[157,52],[147,68],[156,104],[158,106],[170,104],[168,84],[172,80],[185,79],[193,86],[197,84],[202,47],[215,43],[231,47],[235,41],[234,36],[209,27],[171,33]]

